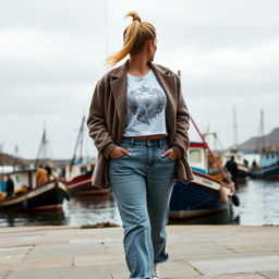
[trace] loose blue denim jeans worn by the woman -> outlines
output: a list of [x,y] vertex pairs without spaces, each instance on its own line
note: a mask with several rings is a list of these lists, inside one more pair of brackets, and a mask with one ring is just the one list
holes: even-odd
[[174,183],[175,161],[161,154],[167,138],[124,137],[131,156],[110,159],[109,179],[124,228],[130,279],[153,278],[154,263],[168,259],[166,226]]

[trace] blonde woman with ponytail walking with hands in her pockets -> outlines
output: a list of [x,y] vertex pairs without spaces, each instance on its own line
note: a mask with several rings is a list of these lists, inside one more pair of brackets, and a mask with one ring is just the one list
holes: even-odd
[[93,185],[111,186],[124,228],[130,279],[159,278],[166,262],[166,226],[174,179],[190,182],[189,112],[179,77],[151,63],[155,27],[130,12],[123,48],[96,85],[87,120],[98,149]]

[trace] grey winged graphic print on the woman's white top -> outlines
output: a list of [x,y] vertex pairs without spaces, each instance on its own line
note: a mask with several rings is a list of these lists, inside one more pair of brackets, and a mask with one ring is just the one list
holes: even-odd
[[165,109],[167,98],[158,88],[142,85],[130,92],[126,104],[129,110],[136,116],[137,121],[149,125],[151,120],[156,119]]

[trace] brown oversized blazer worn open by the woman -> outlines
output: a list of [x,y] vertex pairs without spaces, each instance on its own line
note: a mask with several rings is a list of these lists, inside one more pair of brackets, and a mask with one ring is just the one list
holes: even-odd
[[[96,85],[93,95],[87,125],[89,136],[98,150],[92,184],[109,186],[109,154],[121,143],[126,121],[126,72],[129,60],[109,71]],[[149,62],[150,69],[167,96],[166,121],[169,144],[179,155],[175,162],[175,179],[183,182],[194,180],[186,150],[190,114],[181,93],[180,78],[167,68]]]

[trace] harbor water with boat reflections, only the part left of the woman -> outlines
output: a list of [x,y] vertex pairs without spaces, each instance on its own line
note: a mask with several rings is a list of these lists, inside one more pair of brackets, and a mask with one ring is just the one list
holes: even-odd
[[77,196],[64,201],[61,211],[0,213],[0,227],[82,226],[97,222],[121,225],[113,196]]

